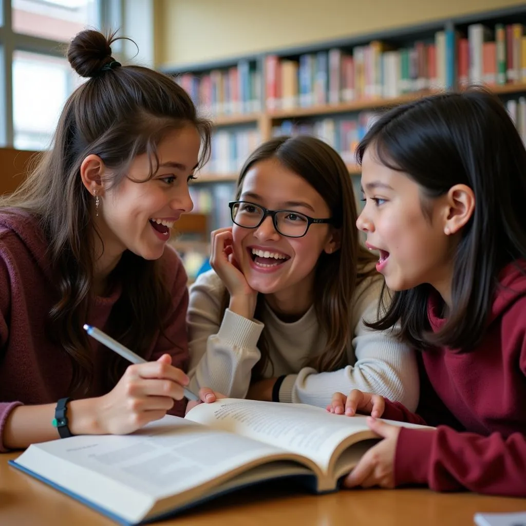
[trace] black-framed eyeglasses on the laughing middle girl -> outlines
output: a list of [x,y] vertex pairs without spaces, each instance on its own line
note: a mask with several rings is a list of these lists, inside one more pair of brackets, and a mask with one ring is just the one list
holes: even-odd
[[285,237],[303,237],[310,225],[332,224],[332,219],[317,219],[294,210],[269,210],[248,201],[231,201],[230,216],[240,227],[257,228],[267,216],[272,217],[274,228]]

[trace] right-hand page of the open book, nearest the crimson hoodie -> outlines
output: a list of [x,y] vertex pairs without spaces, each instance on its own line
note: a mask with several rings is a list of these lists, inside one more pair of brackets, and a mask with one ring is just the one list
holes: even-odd
[[199,404],[185,418],[301,454],[325,474],[343,440],[353,434],[357,440],[375,437],[366,417],[344,417],[305,404],[227,398]]

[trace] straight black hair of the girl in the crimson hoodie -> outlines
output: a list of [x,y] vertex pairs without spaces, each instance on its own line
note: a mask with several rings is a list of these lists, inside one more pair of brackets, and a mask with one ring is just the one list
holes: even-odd
[[429,284],[396,291],[373,329],[400,323],[400,336],[425,349],[469,351],[483,338],[499,271],[526,258],[526,149],[500,100],[485,90],[431,96],[392,109],[357,149],[372,148],[387,167],[420,186],[422,212],[456,184],[469,186],[476,207],[453,255],[452,306],[437,333],[428,319]]

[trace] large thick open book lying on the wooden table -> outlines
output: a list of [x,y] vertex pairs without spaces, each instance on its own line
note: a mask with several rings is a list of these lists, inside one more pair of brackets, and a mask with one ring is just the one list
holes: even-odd
[[12,465],[117,522],[138,524],[283,477],[315,492],[336,490],[377,440],[362,416],[222,399],[126,436],[33,444]]

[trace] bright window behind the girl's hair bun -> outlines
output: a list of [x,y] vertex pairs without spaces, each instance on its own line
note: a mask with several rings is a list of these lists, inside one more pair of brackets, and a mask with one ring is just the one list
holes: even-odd
[[[67,43],[89,27],[125,34],[124,8],[135,5],[130,0],[0,0],[0,147],[49,146],[67,97],[85,80],[64,56]],[[114,56],[123,51],[119,43],[112,48]]]

